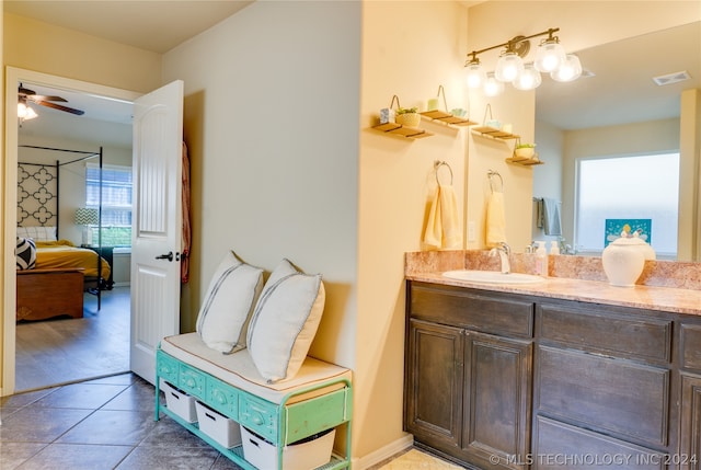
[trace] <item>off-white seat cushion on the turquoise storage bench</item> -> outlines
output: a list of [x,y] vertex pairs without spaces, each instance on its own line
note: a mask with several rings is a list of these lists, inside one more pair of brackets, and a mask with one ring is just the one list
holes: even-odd
[[[233,387],[261,397],[272,403],[281,403],[289,393],[331,379],[352,378],[349,369],[313,357],[307,357],[297,375],[289,380],[267,383],[251,359],[249,349],[233,354],[221,354],[208,347],[197,333],[185,333],[164,337],[161,349],[176,359],[203,370]],[[329,389],[314,393],[321,394]],[[303,398],[310,398],[304,396]],[[302,398],[298,398],[302,399]],[[297,400],[297,401],[298,401]]]

